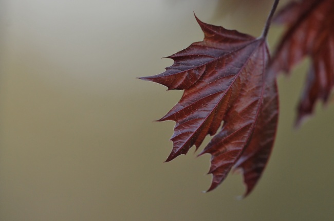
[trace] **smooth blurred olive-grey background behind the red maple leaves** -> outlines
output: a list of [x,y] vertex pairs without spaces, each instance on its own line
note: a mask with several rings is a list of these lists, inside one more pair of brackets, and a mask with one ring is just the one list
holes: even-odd
[[193,11],[258,36],[272,2],[1,0],[0,220],[332,220],[334,105],[293,129],[307,59],[279,77],[275,147],[243,200],[239,174],[201,192],[194,148],[163,163],[174,123],[153,120],[182,92],[136,79],[202,40]]

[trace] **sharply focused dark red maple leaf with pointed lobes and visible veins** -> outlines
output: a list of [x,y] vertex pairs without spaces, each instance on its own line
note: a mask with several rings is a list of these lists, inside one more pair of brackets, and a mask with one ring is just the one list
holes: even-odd
[[277,125],[276,81],[266,75],[266,37],[254,38],[196,19],[205,34],[203,41],[169,56],[174,64],[165,72],[141,79],[184,90],[180,101],[158,120],[176,122],[166,162],[193,145],[197,150],[206,135],[214,135],[199,154],[212,155],[208,191],[234,166],[243,171],[247,195],[266,166]]

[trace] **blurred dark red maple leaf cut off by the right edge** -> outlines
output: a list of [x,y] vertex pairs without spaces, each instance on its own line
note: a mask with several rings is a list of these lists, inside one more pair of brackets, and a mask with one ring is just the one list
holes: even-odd
[[290,72],[304,56],[312,60],[298,106],[299,125],[313,112],[318,99],[327,102],[334,86],[334,1],[293,1],[273,21],[288,28],[273,56],[271,69]]

